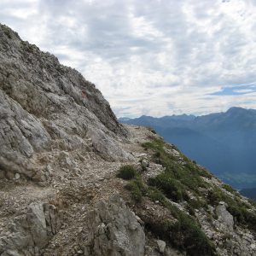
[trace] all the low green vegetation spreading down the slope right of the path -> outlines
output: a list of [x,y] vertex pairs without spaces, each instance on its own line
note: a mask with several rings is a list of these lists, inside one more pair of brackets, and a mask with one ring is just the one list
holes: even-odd
[[[156,236],[186,251],[188,255],[217,255],[214,245],[201,230],[196,218],[191,216],[195,216],[195,209],[207,210],[209,204],[216,206],[219,201],[227,203],[228,211],[235,217],[237,224],[256,231],[256,215],[250,211],[253,205],[242,202],[236,190],[225,184],[220,189],[207,183],[204,177],[211,178],[211,173],[181,153],[172,154],[172,150],[177,148],[160,138],[152,137],[151,142],[143,143],[143,148],[151,151],[154,162],[165,167],[165,171],[150,177],[147,184],[143,183],[138,172],[133,172],[126,189],[131,191],[131,198],[137,203],[141,203],[143,197],[148,197],[151,201],[158,201],[172,214],[173,218],[155,219],[149,216],[143,219],[146,228]],[[234,198],[227,195],[224,189],[232,193]],[[184,206],[189,214],[179,210],[170,200],[186,201]],[[209,218],[214,216],[209,214]]]

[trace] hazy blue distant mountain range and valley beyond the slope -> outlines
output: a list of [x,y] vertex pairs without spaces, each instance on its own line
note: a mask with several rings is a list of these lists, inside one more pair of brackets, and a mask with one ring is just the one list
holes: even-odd
[[120,122],[151,126],[167,142],[236,189],[256,188],[256,110],[230,108],[203,116],[172,115]]

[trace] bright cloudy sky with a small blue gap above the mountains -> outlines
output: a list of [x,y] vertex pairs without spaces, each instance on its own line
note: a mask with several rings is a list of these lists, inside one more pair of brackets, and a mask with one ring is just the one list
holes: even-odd
[[256,0],[0,0],[0,22],[118,117],[256,108]]

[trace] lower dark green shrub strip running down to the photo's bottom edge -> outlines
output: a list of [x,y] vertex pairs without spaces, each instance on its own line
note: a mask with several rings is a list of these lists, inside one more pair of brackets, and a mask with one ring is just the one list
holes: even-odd
[[212,242],[196,220],[166,200],[166,196],[159,189],[144,184],[140,176],[132,179],[125,188],[131,191],[131,198],[137,203],[141,203],[143,196],[147,196],[152,201],[159,201],[176,218],[174,222],[170,219],[146,220],[146,228],[152,230],[156,236],[171,242],[174,247],[186,251],[188,255],[216,255]]

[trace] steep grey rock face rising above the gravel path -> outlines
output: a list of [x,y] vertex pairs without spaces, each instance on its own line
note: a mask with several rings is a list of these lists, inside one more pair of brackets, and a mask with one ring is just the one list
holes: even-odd
[[[0,25],[0,176],[44,180],[36,154],[88,147],[108,160],[124,157],[127,136],[94,84],[54,55]],[[104,142],[104,147],[102,146]]]

